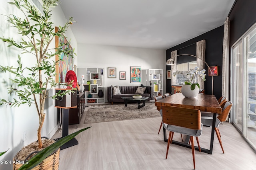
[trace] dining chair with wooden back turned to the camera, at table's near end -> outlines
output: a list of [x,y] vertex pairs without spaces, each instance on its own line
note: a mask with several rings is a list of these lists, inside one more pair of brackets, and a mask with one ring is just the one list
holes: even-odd
[[[182,133],[190,136],[194,169],[196,169],[194,137],[197,138],[198,142],[198,136],[200,136],[202,133],[200,110],[176,106],[162,106],[162,115],[163,127],[170,131],[166,150],[166,159],[168,156],[170,143],[172,142],[173,133]],[[199,142],[198,148],[200,151]]]

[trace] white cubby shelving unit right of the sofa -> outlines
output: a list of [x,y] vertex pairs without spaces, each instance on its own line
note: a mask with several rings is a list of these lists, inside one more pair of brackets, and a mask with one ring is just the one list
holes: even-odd
[[151,100],[154,100],[155,96],[160,93],[163,94],[164,84],[163,84],[163,69],[147,69],[142,70],[142,84],[145,86],[151,86]]

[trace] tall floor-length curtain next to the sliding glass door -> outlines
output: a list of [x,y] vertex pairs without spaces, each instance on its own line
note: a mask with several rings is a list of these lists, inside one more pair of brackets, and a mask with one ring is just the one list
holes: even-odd
[[223,51],[222,51],[222,96],[229,100],[229,18],[224,22]]

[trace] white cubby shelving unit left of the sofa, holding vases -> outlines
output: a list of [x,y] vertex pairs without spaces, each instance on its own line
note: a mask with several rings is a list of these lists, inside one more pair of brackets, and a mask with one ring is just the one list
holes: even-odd
[[[103,74],[102,74],[103,70]],[[105,103],[105,90],[104,90],[104,68],[86,68],[86,76],[84,84],[89,85],[89,91],[86,92],[86,104],[103,104]],[[99,91],[102,90],[103,97],[99,97]]]

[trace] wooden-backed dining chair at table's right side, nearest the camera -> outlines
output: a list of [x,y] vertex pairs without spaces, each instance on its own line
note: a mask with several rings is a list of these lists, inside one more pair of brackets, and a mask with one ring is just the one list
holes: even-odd
[[[226,100],[222,104],[223,108],[222,108],[221,114],[219,114],[218,117],[216,117],[216,121],[215,121],[215,132],[218,137],[220,147],[221,147],[223,153],[224,153],[224,149],[222,146],[222,141],[220,139],[221,136],[220,136],[219,125],[220,125],[220,123],[222,123],[223,121],[226,121],[228,119],[228,115],[230,113],[232,105],[233,105],[232,102],[230,102],[229,100]],[[206,126],[212,126],[212,120],[213,120],[212,115],[201,117],[201,121],[202,121],[203,125],[206,125]]]

